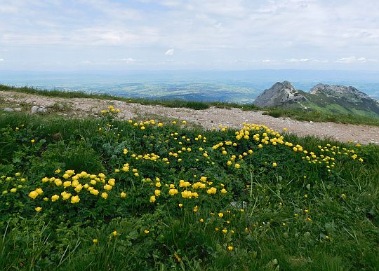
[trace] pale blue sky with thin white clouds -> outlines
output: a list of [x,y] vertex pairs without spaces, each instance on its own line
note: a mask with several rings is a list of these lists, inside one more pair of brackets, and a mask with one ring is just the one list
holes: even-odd
[[379,69],[378,0],[0,0],[0,71]]

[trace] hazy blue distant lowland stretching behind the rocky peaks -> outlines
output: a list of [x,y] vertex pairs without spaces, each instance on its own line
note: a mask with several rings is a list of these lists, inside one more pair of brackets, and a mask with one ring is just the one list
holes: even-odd
[[[166,71],[7,71],[0,73],[0,83],[47,90],[107,92],[132,97],[154,97],[179,93],[235,92],[245,100],[274,83],[290,81],[296,89],[309,91],[317,83],[353,86],[379,99],[378,71],[248,69],[248,70],[166,70]],[[250,98],[248,92],[251,93]],[[196,95],[196,94],[193,94]],[[241,97],[242,97],[241,96]],[[183,96],[184,97],[184,96]]]

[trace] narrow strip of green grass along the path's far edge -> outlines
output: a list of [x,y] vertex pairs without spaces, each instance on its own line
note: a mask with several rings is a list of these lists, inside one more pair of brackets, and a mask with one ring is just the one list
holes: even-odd
[[[258,110],[257,106],[253,104],[237,104],[237,103],[227,103],[227,102],[186,102],[186,101],[167,101],[167,100],[149,100],[149,99],[134,99],[127,97],[114,97],[112,95],[105,94],[86,94],[84,92],[64,92],[59,90],[36,90],[34,88],[13,88],[6,85],[0,85],[0,90],[3,91],[14,91],[23,92],[34,95],[44,95],[48,97],[65,97],[65,98],[95,98],[95,99],[117,99],[123,102],[135,102],[139,104],[159,104],[161,106],[167,107],[185,107],[191,109],[208,109],[211,106],[216,106],[218,108],[230,109],[232,107],[239,108],[243,111]],[[291,104],[288,108],[268,108],[260,109],[267,112],[267,115],[274,117],[289,117],[296,120],[307,120],[315,122],[325,122],[331,121],[334,123],[352,123],[352,124],[364,124],[364,125],[375,125],[379,126],[379,118],[376,116],[371,116],[371,114],[360,115],[360,111],[352,110],[345,111],[345,109],[335,111],[335,106],[333,104],[328,106],[317,106],[315,104],[305,104],[306,106],[312,107],[314,111],[304,111],[302,106],[298,104]],[[334,107],[333,107],[334,106]],[[330,110],[331,109],[331,110]],[[339,106],[339,109],[340,106]],[[333,113],[334,112],[334,113]]]

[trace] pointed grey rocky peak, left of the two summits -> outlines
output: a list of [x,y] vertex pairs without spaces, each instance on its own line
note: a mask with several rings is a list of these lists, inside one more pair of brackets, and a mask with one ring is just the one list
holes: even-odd
[[299,90],[296,90],[291,82],[277,82],[271,88],[259,95],[253,104],[260,107],[280,106],[281,104],[305,101]]

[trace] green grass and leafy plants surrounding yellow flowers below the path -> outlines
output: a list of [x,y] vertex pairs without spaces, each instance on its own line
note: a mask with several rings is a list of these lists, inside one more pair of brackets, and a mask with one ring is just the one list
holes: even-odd
[[[109,118],[61,121],[1,113],[0,176],[13,176],[13,181],[25,176],[27,181],[18,193],[0,195],[0,268],[278,270],[280,265],[284,270],[375,270],[379,266],[378,146],[285,136],[317,155],[323,153],[318,145],[329,149],[327,144],[331,144],[342,152],[343,148],[354,149],[365,160],[359,163],[348,157],[351,154],[332,155],[335,169],[328,173],[325,163],[310,165],[300,153],[280,144],[258,148],[256,141],[241,139],[237,147],[227,147],[227,155],[211,148],[220,141],[236,141],[233,130],[145,127],[141,130]],[[194,140],[198,134],[207,141]],[[192,148],[180,154],[182,162],[168,155],[169,151],[178,153],[182,146]],[[199,147],[208,151],[210,160]],[[128,148],[127,155],[123,148]],[[254,154],[239,162],[240,169],[226,165],[230,155],[248,149]],[[131,156],[153,152],[168,157],[171,164]],[[137,168],[140,177],[114,173],[125,162]],[[272,162],[278,166],[272,167]],[[63,190],[40,181],[44,176],[62,176],[63,172],[53,173],[57,168],[105,172],[117,184],[107,200],[86,192],[79,194],[78,204],[29,198],[27,193],[37,187],[44,189],[41,197]],[[179,179],[194,183],[199,176],[207,176],[213,181],[209,186],[217,187],[218,193],[212,196],[197,190],[199,198],[188,200],[180,194],[169,196],[168,188],[162,186],[162,195],[150,203],[157,187],[141,182],[142,176],[153,180],[159,176],[162,183],[176,183],[177,188]],[[225,195],[220,193],[221,183],[228,191]],[[1,179],[2,190],[11,186],[12,181]],[[124,200],[118,196],[121,190],[128,194]],[[232,201],[246,202],[244,212],[230,206]],[[179,208],[178,203],[184,206]],[[36,213],[34,207],[39,206],[43,210]],[[117,236],[112,235],[114,230]]]

